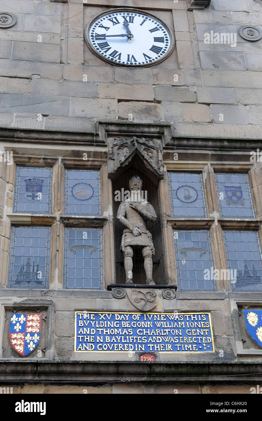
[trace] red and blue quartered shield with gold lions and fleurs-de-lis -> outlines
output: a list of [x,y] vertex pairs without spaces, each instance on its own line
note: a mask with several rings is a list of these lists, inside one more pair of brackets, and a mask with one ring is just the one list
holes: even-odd
[[11,314],[10,342],[13,349],[22,357],[27,357],[35,351],[40,341],[40,331],[41,314]]

